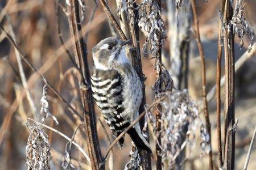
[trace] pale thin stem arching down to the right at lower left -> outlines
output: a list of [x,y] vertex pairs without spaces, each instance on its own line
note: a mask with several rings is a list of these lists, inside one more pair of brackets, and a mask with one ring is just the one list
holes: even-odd
[[33,120],[32,118],[28,118],[27,121],[28,121],[28,120],[31,120],[31,121],[35,122],[36,124],[38,124],[38,125],[44,126],[45,128],[47,128],[47,129],[49,129],[49,130],[52,130],[52,131],[54,131],[55,133],[61,135],[61,137],[64,137],[64,138],[67,139],[68,141],[71,141],[71,142],[73,143],[73,145],[75,145],[75,146],[79,149],[79,151],[85,156],[86,160],[87,160],[87,161],[89,162],[89,164],[90,164],[90,158],[89,158],[89,156],[88,156],[88,155],[86,154],[86,152],[82,149],[82,147],[79,146],[76,142],[72,141],[71,138],[67,137],[65,134],[61,133],[60,131],[51,128],[50,126],[44,125],[44,124],[42,124],[42,123],[40,123],[40,122],[38,122],[38,121]]

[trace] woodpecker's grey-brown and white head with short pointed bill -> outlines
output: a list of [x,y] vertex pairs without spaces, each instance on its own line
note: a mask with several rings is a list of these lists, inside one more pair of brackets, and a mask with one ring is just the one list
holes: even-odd
[[125,54],[125,45],[130,40],[122,41],[117,37],[101,40],[92,49],[93,61],[96,69],[109,70],[130,63]]

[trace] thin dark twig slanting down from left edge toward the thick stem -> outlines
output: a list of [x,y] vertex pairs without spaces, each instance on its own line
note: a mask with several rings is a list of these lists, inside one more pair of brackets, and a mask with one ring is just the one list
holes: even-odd
[[67,105],[67,107],[68,107],[69,109],[71,109],[71,111],[72,111],[73,114],[76,114],[76,116],[79,117],[79,119],[80,119],[81,122],[84,121],[84,118],[82,118],[82,117],[80,116],[80,114],[77,113],[77,111],[68,103],[68,101],[65,100],[65,99],[59,94],[59,92],[57,92],[57,91],[55,90],[55,88],[51,85],[51,83],[49,83],[48,80],[47,80],[42,74],[40,74],[40,73],[38,72],[38,70],[36,70],[36,68],[27,60],[27,58],[24,57],[24,55],[22,54],[22,52],[20,51],[20,49],[18,48],[18,46],[15,44],[14,40],[13,40],[13,39],[11,38],[11,36],[9,35],[9,33],[7,33],[7,32],[5,31],[5,29],[4,29],[1,25],[0,25],[0,29],[1,29],[1,31],[5,32],[5,35],[6,35],[7,39],[11,42],[11,44],[14,46],[14,48],[19,52],[20,57],[22,57],[23,61],[25,61],[25,62],[27,63],[27,65],[30,67],[30,69],[33,70],[35,73],[37,73],[43,81],[46,81],[47,86],[53,91],[53,93],[54,93],[57,97],[59,97],[59,98],[63,101],[63,103],[64,103],[65,105]]

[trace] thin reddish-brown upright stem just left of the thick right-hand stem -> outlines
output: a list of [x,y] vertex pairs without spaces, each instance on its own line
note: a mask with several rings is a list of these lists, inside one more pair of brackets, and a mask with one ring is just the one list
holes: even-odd
[[218,161],[220,167],[223,165],[222,160],[222,146],[221,146],[221,55],[222,55],[222,46],[221,46],[221,32],[222,24],[221,20],[219,22],[218,29],[218,56],[217,56],[217,74],[216,74],[216,108],[217,108],[217,137],[218,137]]

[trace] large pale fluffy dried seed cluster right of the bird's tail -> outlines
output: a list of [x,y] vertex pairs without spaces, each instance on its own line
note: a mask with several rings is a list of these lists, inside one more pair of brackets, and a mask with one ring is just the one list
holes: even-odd
[[198,125],[201,127],[201,149],[203,153],[209,153],[209,134],[199,117],[195,102],[188,95],[188,91],[170,93],[168,101],[163,101],[162,106],[162,145],[160,147],[162,148],[163,160],[169,160],[169,166],[173,167],[177,156],[185,146],[191,151],[191,148],[195,146]]

